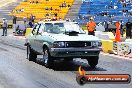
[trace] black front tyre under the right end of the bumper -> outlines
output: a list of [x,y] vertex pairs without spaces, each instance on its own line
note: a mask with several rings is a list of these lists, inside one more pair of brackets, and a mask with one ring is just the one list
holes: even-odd
[[98,64],[98,56],[91,56],[87,58],[88,64],[90,65],[91,68],[95,68],[96,65]]

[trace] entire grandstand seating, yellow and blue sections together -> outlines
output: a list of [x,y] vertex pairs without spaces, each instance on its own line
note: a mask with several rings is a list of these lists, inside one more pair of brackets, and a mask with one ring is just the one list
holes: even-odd
[[[0,10],[1,18],[6,17],[5,13],[10,12],[10,16],[15,15],[21,19],[29,18],[32,14],[38,20],[53,18],[57,14],[58,19],[76,19],[80,24],[86,24],[90,16],[93,16],[97,23],[104,20],[126,22],[128,19],[132,19],[132,2],[126,2],[124,7],[121,0],[83,0],[83,2],[82,0],[1,0],[0,6],[11,1],[16,4],[10,4],[8,8]],[[64,1],[67,6],[61,7]],[[11,5],[14,5],[15,8]]]

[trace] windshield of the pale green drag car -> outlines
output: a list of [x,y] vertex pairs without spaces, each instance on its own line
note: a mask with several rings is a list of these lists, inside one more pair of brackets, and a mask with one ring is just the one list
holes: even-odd
[[66,33],[66,32],[78,32],[79,34],[84,34],[85,32],[79,27],[76,23],[55,23],[54,25],[52,23],[46,23],[45,24],[46,31],[49,33]]

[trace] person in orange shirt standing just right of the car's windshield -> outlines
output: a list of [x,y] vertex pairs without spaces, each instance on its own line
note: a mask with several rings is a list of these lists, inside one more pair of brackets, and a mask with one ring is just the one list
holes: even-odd
[[87,30],[88,30],[88,35],[95,35],[94,31],[95,31],[95,27],[96,27],[96,23],[93,21],[93,18],[90,18],[90,21],[87,23]]

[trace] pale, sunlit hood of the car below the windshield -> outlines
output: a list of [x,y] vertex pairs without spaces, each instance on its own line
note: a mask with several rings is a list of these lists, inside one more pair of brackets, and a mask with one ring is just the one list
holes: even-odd
[[49,34],[54,41],[100,41],[96,36],[87,34],[78,34],[77,36],[69,36],[66,34]]

